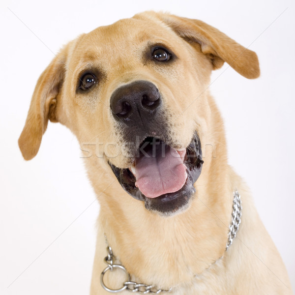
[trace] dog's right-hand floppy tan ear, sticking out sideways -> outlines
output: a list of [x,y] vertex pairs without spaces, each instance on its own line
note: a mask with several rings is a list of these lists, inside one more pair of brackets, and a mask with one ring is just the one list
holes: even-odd
[[200,43],[202,52],[211,59],[213,69],[220,68],[226,61],[248,79],[259,77],[256,53],[236,43],[218,29],[199,20],[169,14],[162,15],[162,20],[182,38]]

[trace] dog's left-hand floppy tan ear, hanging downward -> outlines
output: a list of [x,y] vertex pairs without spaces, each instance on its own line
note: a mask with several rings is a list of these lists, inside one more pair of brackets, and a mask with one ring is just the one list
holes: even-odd
[[66,45],[41,74],[35,87],[28,117],[18,144],[26,160],[38,152],[48,119],[57,122],[55,110],[65,71],[69,45]]

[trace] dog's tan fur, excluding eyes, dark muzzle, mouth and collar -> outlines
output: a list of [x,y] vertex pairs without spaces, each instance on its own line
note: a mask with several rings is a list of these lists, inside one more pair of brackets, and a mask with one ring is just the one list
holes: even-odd
[[[151,43],[172,50],[177,56],[173,65],[145,61]],[[219,30],[197,20],[146,12],[81,35],[38,80],[19,146],[25,159],[34,157],[48,119],[66,125],[80,142],[101,206],[91,295],[109,294],[99,283],[106,266],[104,234],[132,280],[175,287],[173,295],[292,293],[248,189],[227,163],[222,118],[207,89],[211,70],[224,61],[247,78],[259,76],[256,54]],[[76,92],[81,72],[89,68],[99,72],[98,85],[87,94]],[[197,130],[205,153],[193,201],[173,216],[146,210],[121,188],[107,164],[108,159],[121,168],[130,166],[109,106],[115,89],[136,80],[160,89],[174,145],[187,147]],[[235,189],[241,194],[242,223],[225,253]],[[105,281],[115,288],[124,279],[115,273]]]

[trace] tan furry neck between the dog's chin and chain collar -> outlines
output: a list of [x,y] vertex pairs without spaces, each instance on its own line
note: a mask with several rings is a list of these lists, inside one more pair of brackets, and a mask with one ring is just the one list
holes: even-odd
[[121,264],[141,281],[163,287],[188,282],[223,256],[232,192],[207,196],[200,190],[189,209],[168,218],[148,212],[144,204],[129,212],[131,202],[140,203],[110,198],[101,204],[100,221]]

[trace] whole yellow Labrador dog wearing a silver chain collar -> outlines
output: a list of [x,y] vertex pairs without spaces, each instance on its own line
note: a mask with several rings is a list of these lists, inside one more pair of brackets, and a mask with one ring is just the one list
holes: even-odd
[[292,294],[227,163],[208,90],[224,62],[260,75],[257,55],[218,29],[149,11],[80,35],[41,74],[19,147],[33,158],[48,120],[81,145],[100,203],[91,295]]

